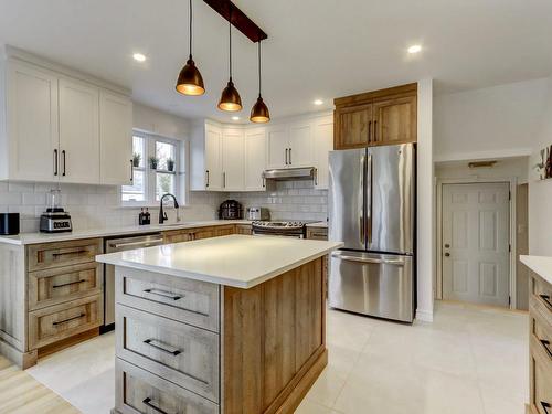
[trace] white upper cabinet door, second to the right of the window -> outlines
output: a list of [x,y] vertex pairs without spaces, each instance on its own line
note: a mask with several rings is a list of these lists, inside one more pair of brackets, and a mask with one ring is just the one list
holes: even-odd
[[222,135],[222,187],[226,191],[244,189],[244,131],[225,130]]

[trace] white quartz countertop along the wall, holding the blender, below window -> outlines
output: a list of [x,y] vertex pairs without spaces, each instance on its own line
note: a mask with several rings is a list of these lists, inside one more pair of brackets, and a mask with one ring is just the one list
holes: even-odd
[[93,238],[93,237],[110,237],[126,236],[142,233],[167,232],[169,230],[182,230],[194,227],[206,227],[212,225],[227,224],[251,224],[246,220],[210,220],[195,222],[181,222],[178,224],[151,224],[151,225],[134,225],[127,227],[108,227],[108,229],[92,229],[76,230],[67,233],[21,233],[17,236],[0,236],[0,243],[9,243],[15,245],[38,244],[64,242],[68,240]]

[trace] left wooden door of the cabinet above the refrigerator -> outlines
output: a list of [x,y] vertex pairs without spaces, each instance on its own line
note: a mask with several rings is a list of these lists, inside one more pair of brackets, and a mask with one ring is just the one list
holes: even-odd
[[369,144],[372,104],[336,107],[333,119],[335,149],[362,148]]

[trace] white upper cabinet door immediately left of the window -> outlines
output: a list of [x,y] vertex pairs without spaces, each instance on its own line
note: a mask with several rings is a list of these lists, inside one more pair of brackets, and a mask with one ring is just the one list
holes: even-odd
[[132,102],[99,93],[99,168],[102,184],[130,184],[132,178]]

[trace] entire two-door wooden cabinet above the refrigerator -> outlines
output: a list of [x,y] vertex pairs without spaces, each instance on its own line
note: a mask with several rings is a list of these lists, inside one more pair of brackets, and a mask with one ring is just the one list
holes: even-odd
[[417,84],[335,99],[333,149],[415,142]]

